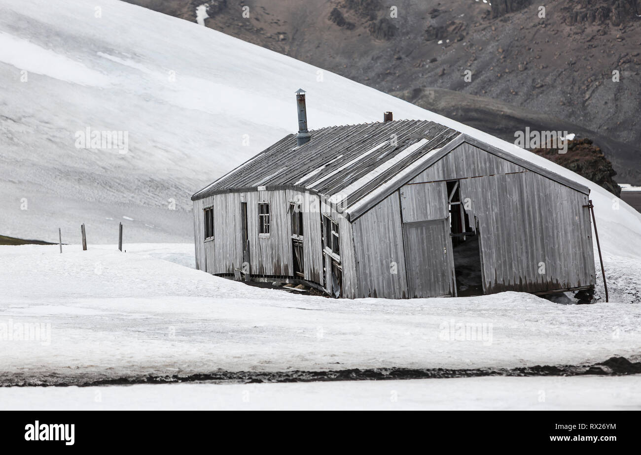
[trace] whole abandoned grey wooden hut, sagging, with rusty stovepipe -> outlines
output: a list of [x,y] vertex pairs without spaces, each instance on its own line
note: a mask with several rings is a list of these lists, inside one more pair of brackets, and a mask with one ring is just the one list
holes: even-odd
[[192,196],[199,269],[344,298],[594,289],[587,187],[391,113],[308,131],[297,103],[298,134]]

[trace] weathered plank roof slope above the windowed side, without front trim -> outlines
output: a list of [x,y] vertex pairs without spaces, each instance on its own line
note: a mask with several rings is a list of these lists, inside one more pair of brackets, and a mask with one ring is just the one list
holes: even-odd
[[345,189],[367,193],[376,182],[460,134],[427,120],[335,126],[310,132],[312,139],[300,147],[295,134],[285,136],[198,191],[192,200],[258,186],[297,186],[328,197],[340,195]]

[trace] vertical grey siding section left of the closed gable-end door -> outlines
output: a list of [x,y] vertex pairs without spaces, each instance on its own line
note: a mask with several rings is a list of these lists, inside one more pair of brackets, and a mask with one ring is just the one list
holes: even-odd
[[408,296],[400,204],[395,191],[352,225],[359,297]]

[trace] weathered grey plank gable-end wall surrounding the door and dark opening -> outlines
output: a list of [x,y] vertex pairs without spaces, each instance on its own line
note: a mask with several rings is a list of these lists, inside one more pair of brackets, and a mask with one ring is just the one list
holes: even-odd
[[[463,143],[354,221],[360,296],[410,295],[401,227],[447,218],[445,180],[460,180],[462,200],[470,198],[470,223],[478,218],[488,294],[594,285],[590,215],[582,207],[588,196]],[[392,261],[398,264],[395,276]]]

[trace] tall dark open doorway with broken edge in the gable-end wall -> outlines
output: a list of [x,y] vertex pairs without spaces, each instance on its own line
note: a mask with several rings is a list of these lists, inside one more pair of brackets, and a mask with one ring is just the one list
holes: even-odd
[[454,255],[456,295],[459,297],[483,295],[481,245],[476,217],[470,220],[461,198],[460,182],[447,182],[450,237]]

